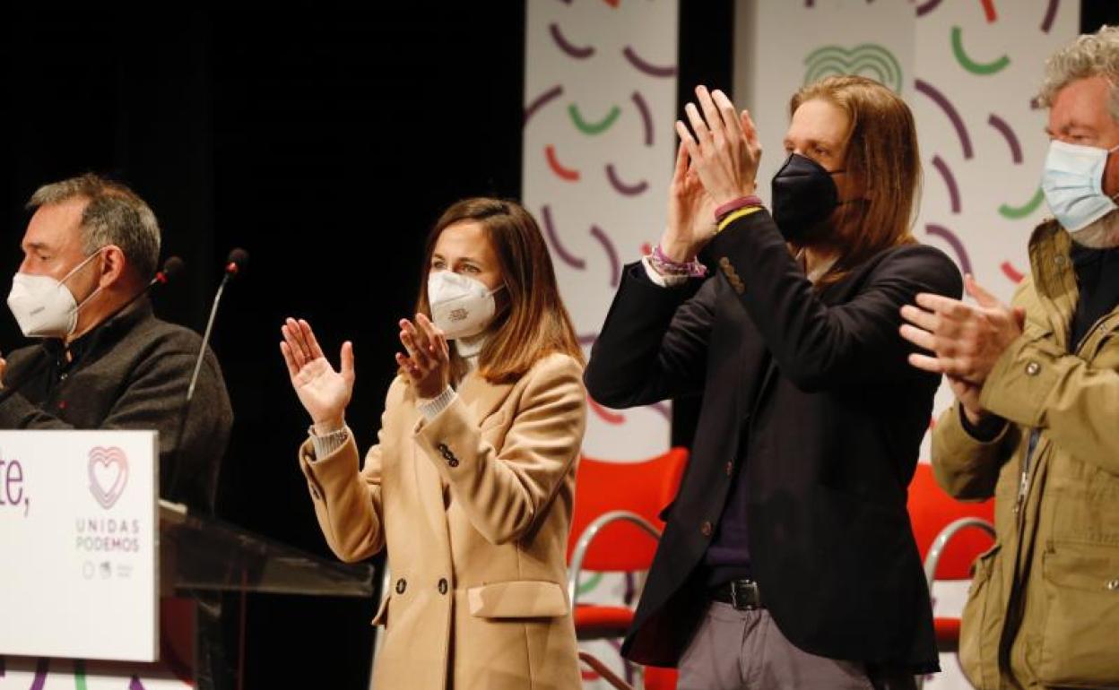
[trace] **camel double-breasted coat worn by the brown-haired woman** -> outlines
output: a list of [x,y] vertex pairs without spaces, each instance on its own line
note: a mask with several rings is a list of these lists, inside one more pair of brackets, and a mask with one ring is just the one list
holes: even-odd
[[300,448],[333,552],[352,561],[388,549],[378,690],[581,687],[565,590],[581,377],[566,355],[515,384],[472,374],[431,422],[397,378],[360,471],[352,438],[320,460]]

